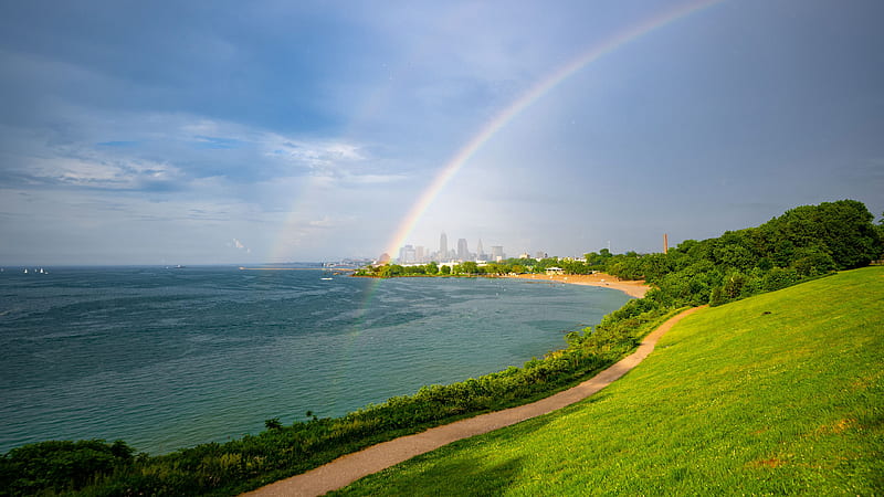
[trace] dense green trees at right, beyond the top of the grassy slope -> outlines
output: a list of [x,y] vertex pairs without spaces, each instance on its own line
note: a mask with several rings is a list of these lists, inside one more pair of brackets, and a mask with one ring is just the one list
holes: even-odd
[[717,239],[687,240],[667,254],[627,253],[587,260],[625,279],[656,286],[662,306],[726,304],[804,279],[867,265],[884,250],[873,216],[854,200],[803,205]]

